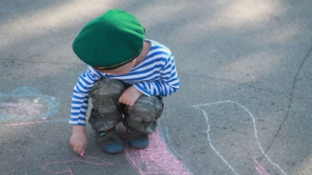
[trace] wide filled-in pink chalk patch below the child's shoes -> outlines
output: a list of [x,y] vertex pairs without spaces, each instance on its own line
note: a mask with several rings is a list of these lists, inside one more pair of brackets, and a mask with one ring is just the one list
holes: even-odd
[[183,164],[167,150],[159,129],[149,136],[149,145],[145,149],[134,149],[127,145],[125,152],[131,164],[142,175],[190,174]]

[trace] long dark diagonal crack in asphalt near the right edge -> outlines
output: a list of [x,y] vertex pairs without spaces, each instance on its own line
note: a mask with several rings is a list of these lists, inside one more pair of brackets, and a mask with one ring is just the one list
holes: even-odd
[[[279,129],[278,129],[277,133],[275,134],[275,136],[274,136],[274,138],[273,138],[271,144],[270,144],[270,145],[268,146],[268,148],[266,149],[265,154],[267,154],[267,151],[270,149],[270,147],[271,147],[271,146],[273,145],[273,143],[275,142],[276,137],[279,135],[280,130],[282,129],[282,126],[283,126],[283,124],[284,124],[286,118],[288,117],[289,110],[290,110],[291,104],[292,104],[293,93],[294,93],[294,90],[295,90],[295,84],[296,84],[296,82],[297,82],[297,77],[298,77],[299,72],[300,72],[300,70],[301,70],[301,68],[302,68],[302,65],[303,65],[304,62],[306,61],[306,59],[307,59],[307,57],[309,56],[309,54],[311,53],[311,51],[312,51],[312,47],[310,47],[308,53],[305,55],[304,59],[301,61],[301,64],[300,64],[300,66],[299,66],[299,69],[298,69],[298,71],[297,71],[297,73],[296,73],[296,75],[295,75],[294,82],[293,82],[293,84],[292,84],[292,92],[291,92],[291,95],[290,95],[290,103],[289,103],[289,105],[288,105],[288,107],[287,107],[287,113],[286,113],[286,115],[285,115],[285,117],[284,117],[284,119],[283,119],[281,125],[279,126]],[[261,159],[262,159],[263,157],[264,157],[264,155],[262,155],[262,156],[260,157],[259,162],[261,161]]]

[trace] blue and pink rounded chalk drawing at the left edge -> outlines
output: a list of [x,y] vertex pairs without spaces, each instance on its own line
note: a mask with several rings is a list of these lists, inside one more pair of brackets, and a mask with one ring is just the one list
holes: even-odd
[[45,120],[58,113],[59,104],[58,99],[42,95],[38,89],[32,87],[19,87],[11,94],[0,92],[0,122],[38,118]]

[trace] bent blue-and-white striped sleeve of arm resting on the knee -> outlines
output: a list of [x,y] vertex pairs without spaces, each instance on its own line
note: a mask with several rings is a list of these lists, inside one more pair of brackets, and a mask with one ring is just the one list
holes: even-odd
[[172,54],[164,65],[161,65],[161,78],[154,81],[142,81],[133,84],[135,88],[147,96],[169,96],[179,90],[179,78],[176,71],[175,59]]

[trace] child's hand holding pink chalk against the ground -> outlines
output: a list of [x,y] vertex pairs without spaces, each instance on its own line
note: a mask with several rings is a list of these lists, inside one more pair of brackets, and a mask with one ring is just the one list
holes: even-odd
[[88,139],[85,134],[84,126],[74,126],[73,127],[73,135],[70,138],[70,144],[72,145],[74,152],[77,154],[84,153],[84,149],[87,147]]

